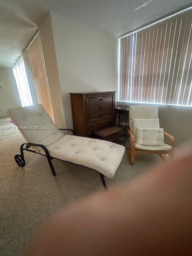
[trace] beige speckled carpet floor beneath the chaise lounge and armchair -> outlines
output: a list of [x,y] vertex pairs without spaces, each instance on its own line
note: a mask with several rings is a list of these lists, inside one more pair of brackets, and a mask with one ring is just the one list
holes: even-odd
[[[0,126],[9,122],[0,118]],[[20,132],[0,130],[0,255],[19,255],[40,224],[54,212],[103,189],[97,172],[60,160],[53,160],[54,177],[44,156],[25,152],[26,166],[17,166],[14,155],[25,142]],[[154,163],[158,155],[138,155],[131,166],[125,153],[108,187],[132,182]]]

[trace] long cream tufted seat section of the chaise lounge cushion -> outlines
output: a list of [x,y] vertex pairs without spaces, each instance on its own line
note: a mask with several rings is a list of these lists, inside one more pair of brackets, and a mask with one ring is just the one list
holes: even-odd
[[73,135],[65,135],[47,148],[54,158],[92,168],[108,178],[114,176],[125,152],[116,143]]

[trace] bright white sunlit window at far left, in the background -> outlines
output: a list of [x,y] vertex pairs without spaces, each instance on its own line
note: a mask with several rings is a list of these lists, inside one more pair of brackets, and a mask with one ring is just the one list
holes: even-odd
[[22,56],[19,58],[18,62],[14,65],[13,74],[16,80],[22,107],[33,105],[31,92],[30,92],[30,88],[27,80],[24,60]]

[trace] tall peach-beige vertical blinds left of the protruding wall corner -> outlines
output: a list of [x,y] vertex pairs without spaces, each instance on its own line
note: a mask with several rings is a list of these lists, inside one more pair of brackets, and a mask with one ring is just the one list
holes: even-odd
[[34,90],[38,104],[42,104],[54,121],[48,79],[44,64],[40,34],[38,33],[29,44],[26,54],[32,74]]

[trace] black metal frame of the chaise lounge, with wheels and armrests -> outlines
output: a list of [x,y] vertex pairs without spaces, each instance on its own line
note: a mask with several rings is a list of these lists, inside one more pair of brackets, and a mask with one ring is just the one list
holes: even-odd
[[[68,130],[68,131],[71,131],[75,135],[74,130],[72,130],[72,129],[59,129],[59,130]],[[24,148],[24,145],[26,145],[25,148]],[[36,143],[32,143],[32,142],[23,143],[20,146],[20,154],[16,154],[14,156],[15,161],[18,164],[18,166],[20,166],[20,167],[25,166],[24,150],[29,151],[29,152],[33,152],[33,153],[36,153],[36,154],[39,154],[39,155],[42,155],[42,156],[45,156],[44,154],[40,154],[40,153],[36,152],[35,150],[29,149],[31,146],[41,147],[44,150],[46,158],[47,158],[48,163],[49,163],[49,166],[51,168],[52,174],[53,174],[53,176],[56,176],[56,172],[55,172],[54,166],[52,164],[52,159],[58,159],[58,160],[61,160],[61,159],[50,156],[48,149],[46,148],[46,146],[44,146],[42,144],[36,144]],[[64,160],[61,160],[61,161],[64,161]],[[67,162],[67,161],[64,161],[64,162]],[[74,163],[70,162],[70,164],[74,164]],[[76,164],[76,165],[79,165],[79,164]],[[89,168],[89,169],[91,169],[91,168]],[[91,169],[91,170],[94,170],[94,169]],[[96,172],[98,172],[98,171],[96,171]],[[98,173],[100,174],[100,177],[101,177],[102,184],[103,184],[104,188],[107,189],[106,182],[105,182],[105,179],[104,179],[105,176],[100,172],[98,172]]]

